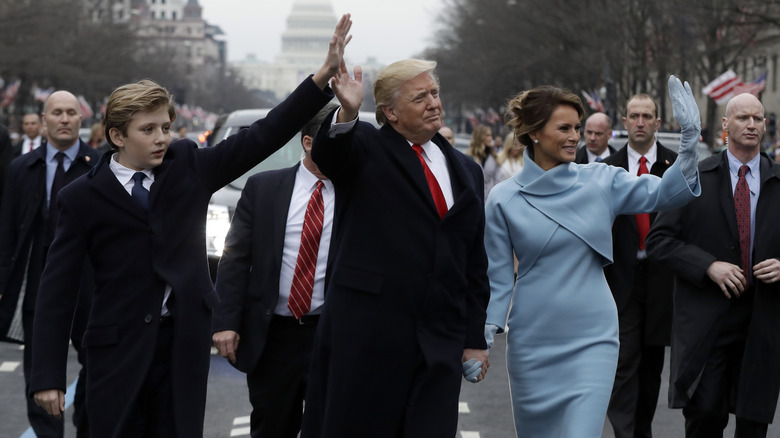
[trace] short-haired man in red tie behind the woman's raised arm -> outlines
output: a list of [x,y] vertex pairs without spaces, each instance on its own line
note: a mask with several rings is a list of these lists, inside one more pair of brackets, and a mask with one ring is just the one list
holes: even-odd
[[[655,139],[660,125],[650,96],[631,97],[623,117],[628,143],[604,163],[634,175],[662,176],[677,153]],[[672,274],[647,259],[645,238],[653,219],[655,213],[618,216],[612,225],[615,262],[604,268],[620,327],[618,367],[607,410],[616,438],[652,436],[664,349],[671,336]]]

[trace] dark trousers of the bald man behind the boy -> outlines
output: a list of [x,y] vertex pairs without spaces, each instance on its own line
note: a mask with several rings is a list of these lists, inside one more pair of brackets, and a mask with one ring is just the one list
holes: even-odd
[[[56,418],[53,415],[49,415],[46,411],[35,404],[33,395],[30,394],[30,375],[32,369],[32,352],[34,345],[32,343],[33,333],[33,319],[34,312],[23,311],[22,313],[22,327],[24,329],[24,355],[22,369],[24,371],[24,391],[27,402],[27,420],[30,422],[30,427],[35,432],[38,438],[62,438],[65,435],[65,421],[64,418]],[[79,380],[76,384],[76,394],[73,399],[73,425],[76,426],[77,438],[89,437],[89,424],[87,422],[87,412],[85,406],[85,394],[86,394],[86,363],[85,354],[81,347],[81,335],[83,330],[77,331],[74,329],[72,342],[78,354],[78,361],[81,364],[81,370],[79,370]]]

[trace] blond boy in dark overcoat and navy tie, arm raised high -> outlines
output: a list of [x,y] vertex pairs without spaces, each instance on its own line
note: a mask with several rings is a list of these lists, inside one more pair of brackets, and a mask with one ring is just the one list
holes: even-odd
[[30,391],[52,415],[64,406],[67,328],[88,258],[95,295],[84,333],[94,437],[203,436],[211,309],[205,214],[211,195],[287,143],[333,96],[351,21],[339,21],[325,63],[265,119],[211,148],[170,143],[167,90],[117,88],[103,155],[57,199],[60,220],[35,312]]

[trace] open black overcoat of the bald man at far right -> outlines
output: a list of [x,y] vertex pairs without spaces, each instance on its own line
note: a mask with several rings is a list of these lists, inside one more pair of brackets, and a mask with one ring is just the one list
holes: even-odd
[[[761,191],[756,206],[753,262],[780,258],[780,164],[761,154]],[[675,274],[671,407],[684,407],[718,338],[725,297],[707,276],[716,260],[740,264],[739,233],[726,152],[699,163],[701,196],[661,212],[648,236],[649,256]],[[736,414],[771,423],[780,394],[780,283],[753,278],[753,315],[738,380]]]

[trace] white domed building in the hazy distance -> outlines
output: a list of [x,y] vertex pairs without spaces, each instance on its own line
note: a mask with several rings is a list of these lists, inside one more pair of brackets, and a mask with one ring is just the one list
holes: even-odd
[[[268,92],[281,101],[322,66],[337,21],[329,0],[296,0],[282,34],[282,53],[272,63],[250,54],[230,66],[249,88]],[[361,66],[366,77],[376,77],[384,67],[375,59]]]

